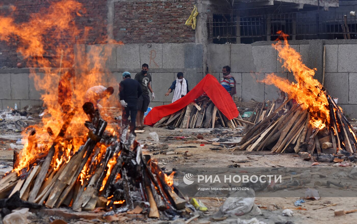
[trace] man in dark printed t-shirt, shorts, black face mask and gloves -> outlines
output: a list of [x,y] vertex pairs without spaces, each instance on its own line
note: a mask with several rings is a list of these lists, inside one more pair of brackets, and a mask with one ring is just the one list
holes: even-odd
[[137,103],[137,115],[136,115],[136,126],[140,126],[141,129],[144,127],[144,113],[150,104],[149,91],[151,93],[152,100],[155,99],[154,91],[151,88],[151,75],[147,73],[149,70],[148,64],[143,64],[141,66],[141,71],[135,75],[135,80],[137,80],[142,88],[142,94],[138,99]]

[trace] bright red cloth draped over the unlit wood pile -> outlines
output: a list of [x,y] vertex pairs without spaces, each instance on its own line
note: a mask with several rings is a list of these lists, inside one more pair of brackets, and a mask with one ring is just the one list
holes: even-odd
[[238,116],[239,112],[231,95],[213,75],[207,74],[205,78],[203,78],[192,90],[190,90],[190,92],[186,94],[186,96],[176,100],[174,103],[163,106],[155,106],[152,108],[149,114],[146,115],[144,124],[149,126],[154,125],[164,116],[181,110],[203,93],[207,94],[207,96],[217,106],[217,109],[220,110],[228,118],[228,120]]

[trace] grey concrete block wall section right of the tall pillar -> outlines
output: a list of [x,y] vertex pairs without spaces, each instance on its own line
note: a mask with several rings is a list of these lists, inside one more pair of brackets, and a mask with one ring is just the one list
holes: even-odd
[[[237,96],[243,101],[276,99],[278,88],[261,80],[267,74],[295,81],[292,73],[281,68],[272,41],[253,44],[208,45],[208,72],[219,80],[222,67],[231,66],[237,81]],[[357,40],[296,40],[289,44],[301,54],[303,63],[317,68],[315,78],[322,83],[323,47],[326,46],[325,81],[329,93],[338,98],[345,115],[357,118]]]

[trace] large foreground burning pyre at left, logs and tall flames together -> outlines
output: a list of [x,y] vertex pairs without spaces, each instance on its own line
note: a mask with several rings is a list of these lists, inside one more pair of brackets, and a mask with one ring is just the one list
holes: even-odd
[[[125,211],[140,205],[149,217],[175,215],[186,201],[176,194],[173,174],[167,176],[149,155],[143,155],[127,127],[115,124],[120,119],[102,119],[85,100],[92,86],[119,87],[114,76],[103,75],[104,62],[115,48],[92,45],[87,61],[74,54],[75,44],[88,43],[90,28],[77,23],[85,13],[81,3],[64,0],[32,13],[24,23],[16,23],[13,14],[0,16],[0,40],[12,44],[16,39],[23,58],[18,66],[30,69],[30,79],[46,108],[41,122],[22,132],[26,143],[22,151],[14,152],[12,172],[0,179],[0,198],[17,197],[16,206],[22,199],[26,206],[37,203],[76,211],[96,207]],[[105,42],[106,36],[102,39],[121,44]],[[66,74],[74,58],[78,63],[70,78]],[[67,109],[57,102],[59,80],[71,87],[67,88],[71,93],[65,94]],[[114,96],[103,99],[102,114],[106,114],[105,105],[118,107],[119,103]]]

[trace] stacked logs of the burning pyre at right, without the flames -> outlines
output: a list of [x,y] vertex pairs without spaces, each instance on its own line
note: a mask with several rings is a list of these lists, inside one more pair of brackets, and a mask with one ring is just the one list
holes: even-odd
[[330,107],[330,123],[325,128],[313,128],[309,109],[302,110],[295,100],[283,96],[257,105],[250,119],[255,125],[245,130],[235,150],[333,154],[345,149],[356,153],[355,130],[327,90],[324,92]]

